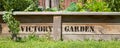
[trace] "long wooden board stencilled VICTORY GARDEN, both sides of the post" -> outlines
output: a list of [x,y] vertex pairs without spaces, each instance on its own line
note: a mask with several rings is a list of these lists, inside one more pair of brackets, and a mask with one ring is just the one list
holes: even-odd
[[[8,33],[6,24],[2,24],[2,33]],[[20,33],[53,32],[52,23],[22,23]],[[63,23],[63,34],[120,34],[120,25],[105,23]]]

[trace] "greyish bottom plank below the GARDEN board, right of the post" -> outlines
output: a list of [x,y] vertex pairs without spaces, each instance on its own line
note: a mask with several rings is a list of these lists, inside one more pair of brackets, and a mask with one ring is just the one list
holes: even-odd
[[64,40],[120,40],[120,34],[81,34],[81,35],[63,35]]

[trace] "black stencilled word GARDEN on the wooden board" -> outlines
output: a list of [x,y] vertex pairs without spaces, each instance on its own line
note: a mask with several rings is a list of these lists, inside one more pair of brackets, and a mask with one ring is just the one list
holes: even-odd
[[65,32],[94,32],[94,26],[66,26]]

